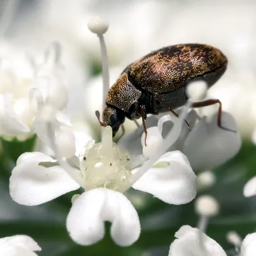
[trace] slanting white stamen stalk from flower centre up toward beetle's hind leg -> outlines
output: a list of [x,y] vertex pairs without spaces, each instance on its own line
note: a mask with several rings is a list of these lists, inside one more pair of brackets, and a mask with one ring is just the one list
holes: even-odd
[[168,132],[161,147],[156,148],[156,154],[150,157],[150,159],[148,159],[148,161],[145,162],[143,166],[141,166],[141,168],[139,168],[137,172],[132,175],[129,184],[127,183],[127,186],[125,186],[124,190],[121,192],[124,192],[127,189],[131,188],[131,186],[138,179],[140,179],[140,177],[143,176],[154,165],[154,163],[156,163],[156,161],[166,152],[166,150],[168,150],[168,148],[170,148],[173,145],[173,143],[175,143],[175,141],[179,138],[182,129],[182,121],[185,119],[186,115],[188,115],[188,111],[189,108],[191,107],[191,104],[192,103],[188,101],[188,103],[182,109],[179,118],[173,119],[173,121],[175,120],[175,124],[173,125],[170,132]]

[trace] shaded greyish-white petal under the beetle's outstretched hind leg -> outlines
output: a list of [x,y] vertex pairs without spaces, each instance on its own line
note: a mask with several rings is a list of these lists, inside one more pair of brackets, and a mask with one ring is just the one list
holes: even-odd
[[[202,118],[184,143],[182,152],[188,157],[193,170],[215,168],[234,157],[241,147],[239,132],[221,129],[217,118],[217,114]],[[221,125],[237,131],[234,118],[228,113],[222,113]]]

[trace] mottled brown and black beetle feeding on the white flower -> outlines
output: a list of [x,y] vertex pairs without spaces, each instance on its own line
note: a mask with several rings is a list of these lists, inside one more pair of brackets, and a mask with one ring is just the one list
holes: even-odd
[[[173,109],[186,104],[188,83],[202,80],[211,87],[224,74],[227,63],[219,49],[205,44],[172,45],[150,52],[128,65],[109,89],[100,125],[110,125],[114,137],[125,117],[130,120],[142,117],[147,145],[147,114],[157,115],[169,110],[178,116]],[[220,104],[218,126],[221,127],[220,100],[194,102],[192,108],[217,103]],[[99,119],[99,111],[97,116]]]

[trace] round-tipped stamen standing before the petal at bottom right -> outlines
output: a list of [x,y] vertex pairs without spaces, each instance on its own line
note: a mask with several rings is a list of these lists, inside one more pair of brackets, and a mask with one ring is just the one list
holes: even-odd
[[207,251],[204,244],[204,233],[206,233],[209,218],[218,214],[220,206],[218,201],[209,195],[199,196],[195,202],[195,211],[199,214],[198,221],[199,229],[199,243],[202,249],[202,255],[207,255]]

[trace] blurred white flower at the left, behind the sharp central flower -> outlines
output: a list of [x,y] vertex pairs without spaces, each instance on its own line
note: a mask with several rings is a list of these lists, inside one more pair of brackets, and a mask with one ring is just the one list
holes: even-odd
[[0,136],[26,140],[35,132],[33,124],[38,106],[29,97],[31,89],[38,90],[42,104],[56,109],[66,107],[67,81],[59,64],[60,56],[56,56],[58,49],[51,46],[41,65],[33,65],[29,57],[20,52],[1,53]]

